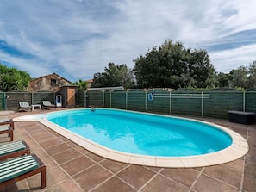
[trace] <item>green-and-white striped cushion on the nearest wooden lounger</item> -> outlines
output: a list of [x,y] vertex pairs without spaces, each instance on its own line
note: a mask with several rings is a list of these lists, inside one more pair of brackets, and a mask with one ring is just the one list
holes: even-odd
[[0,162],[0,183],[22,176],[39,167],[40,164],[31,156],[22,156]]

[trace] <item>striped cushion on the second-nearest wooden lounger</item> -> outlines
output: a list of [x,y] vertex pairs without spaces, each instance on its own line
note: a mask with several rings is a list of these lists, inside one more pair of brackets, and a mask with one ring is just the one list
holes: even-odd
[[0,145],[0,156],[9,154],[10,152],[18,152],[26,149],[21,140],[15,142],[4,143]]

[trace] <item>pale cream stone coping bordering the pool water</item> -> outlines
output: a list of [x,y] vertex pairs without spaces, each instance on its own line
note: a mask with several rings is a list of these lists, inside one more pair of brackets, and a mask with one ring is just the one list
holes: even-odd
[[[26,116],[16,117],[14,121],[39,121],[41,122],[41,124],[51,128],[56,133],[59,133],[60,135],[63,135],[67,139],[72,140],[72,142],[78,144],[79,146],[84,147],[86,150],[90,152],[93,152],[103,158],[109,158],[111,160],[115,160],[115,161],[119,161],[127,164],[140,164],[140,165],[146,165],[146,166],[169,167],[169,168],[203,167],[203,166],[211,166],[216,164],[224,164],[230,161],[234,161],[238,158],[243,157],[245,154],[247,154],[249,150],[247,140],[244,139],[239,133],[235,133],[234,131],[226,127],[215,125],[213,123],[209,123],[206,121],[201,121],[203,123],[207,123],[209,125],[215,126],[225,131],[226,133],[228,133],[233,139],[232,144],[227,148],[218,152],[211,152],[203,155],[185,156],[185,157],[144,156],[144,155],[131,154],[127,152],[118,152],[116,150],[111,150],[107,147],[98,145],[97,143],[91,141],[90,139],[86,139],[82,136],[79,136],[76,133],[72,133],[63,127],[60,127],[50,121],[47,121],[47,119],[45,119],[44,116],[45,115],[26,115]],[[182,118],[182,119],[187,119],[187,118]]]

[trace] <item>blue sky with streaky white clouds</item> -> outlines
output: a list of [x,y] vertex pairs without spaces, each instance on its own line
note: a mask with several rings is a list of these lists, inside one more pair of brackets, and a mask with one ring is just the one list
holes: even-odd
[[256,60],[255,0],[1,0],[0,63],[75,82],[134,67],[165,40],[204,49],[217,72]]

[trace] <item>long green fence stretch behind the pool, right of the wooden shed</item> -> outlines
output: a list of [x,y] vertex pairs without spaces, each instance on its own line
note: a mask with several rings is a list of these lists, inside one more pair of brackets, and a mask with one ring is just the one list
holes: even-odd
[[[152,97],[149,95],[151,94]],[[94,107],[122,108],[169,115],[228,118],[228,110],[256,112],[256,91],[115,90],[88,91]]]

